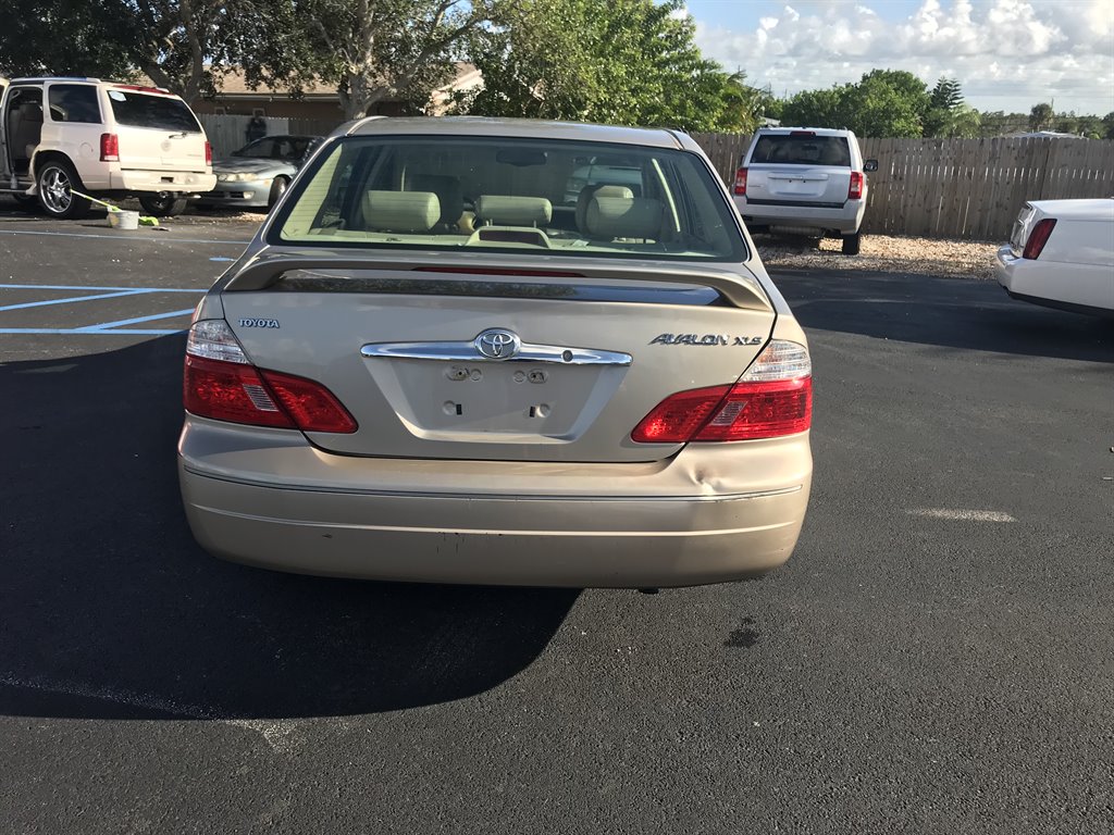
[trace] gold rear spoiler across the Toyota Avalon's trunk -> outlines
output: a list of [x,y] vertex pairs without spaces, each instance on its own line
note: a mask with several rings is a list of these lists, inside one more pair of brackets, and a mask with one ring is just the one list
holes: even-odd
[[[758,278],[750,271],[740,275],[735,272],[716,267],[681,264],[663,266],[661,262],[631,261],[622,266],[602,265],[598,261],[590,264],[569,263],[571,259],[557,264],[539,258],[514,258],[501,256],[498,263],[485,263],[476,256],[453,254],[457,264],[451,264],[444,254],[414,254],[405,256],[377,253],[374,259],[354,258],[336,250],[328,254],[267,253],[250,258],[246,263],[234,266],[217,282],[214,289],[261,291],[275,285],[286,273],[305,271],[321,273],[323,271],[340,271],[359,274],[361,277],[429,278],[444,279],[450,274],[459,275],[461,279],[478,279],[485,282],[507,282],[515,284],[568,284],[570,282],[597,284],[605,282],[654,282],[661,284],[687,284],[697,287],[711,287],[720,293],[735,307],[754,311],[772,311],[773,303],[766,295]],[[460,268],[456,273],[453,266]],[[745,267],[744,267],[745,269]],[[490,272],[487,272],[490,271]],[[355,276],[353,276],[355,277]]]

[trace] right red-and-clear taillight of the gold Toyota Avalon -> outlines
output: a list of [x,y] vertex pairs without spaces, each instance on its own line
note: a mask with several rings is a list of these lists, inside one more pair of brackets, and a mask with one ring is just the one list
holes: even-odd
[[804,345],[774,340],[734,385],[673,394],[642,419],[638,443],[755,441],[812,424],[812,364]]

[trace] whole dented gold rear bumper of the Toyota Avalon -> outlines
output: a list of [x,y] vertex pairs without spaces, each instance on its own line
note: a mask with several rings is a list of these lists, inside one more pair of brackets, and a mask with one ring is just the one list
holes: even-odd
[[[754,577],[792,552],[812,470],[804,433],[724,450],[736,459],[729,470],[749,452],[755,464],[772,455],[780,484],[756,479],[754,489],[739,491],[726,475],[707,473],[725,489],[690,483],[692,494],[677,495],[677,466],[687,469],[676,464],[681,453],[672,462],[598,465],[628,478],[605,474],[599,483],[609,488],[592,494],[584,478],[580,490],[573,487],[567,465],[353,460],[271,431],[292,443],[264,453],[275,470],[264,479],[224,466],[255,456],[236,449],[246,431],[233,429],[223,448],[212,446],[215,432],[212,422],[187,418],[179,444],[186,515],[207,551],[283,571],[381,580],[665,587]],[[364,474],[345,477],[345,487],[335,481],[338,469]],[[507,478],[495,478],[498,469]],[[330,470],[326,485],[317,475]],[[492,485],[504,489],[495,493]]]

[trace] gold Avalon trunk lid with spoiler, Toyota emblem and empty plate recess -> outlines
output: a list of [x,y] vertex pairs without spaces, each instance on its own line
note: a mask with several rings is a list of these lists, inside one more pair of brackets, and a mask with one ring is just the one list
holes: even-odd
[[310,439],[373,456],[659,460],[680,444],[631,431],[677,391],[733,383],[773,327],[753,276],[531,263],[263,258],[222,302],[253,363],[316,380],[359,423]]

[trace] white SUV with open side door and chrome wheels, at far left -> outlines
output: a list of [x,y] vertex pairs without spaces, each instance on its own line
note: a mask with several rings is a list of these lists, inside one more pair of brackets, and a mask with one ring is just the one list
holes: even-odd
[[189,106],[154,87],[96,78],[0,78],[0,194],[81,217],[72,194],[139,197],[176,215],[212,190],[213,154]]

